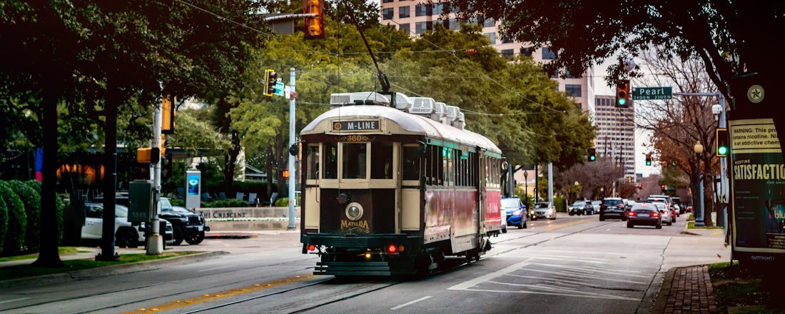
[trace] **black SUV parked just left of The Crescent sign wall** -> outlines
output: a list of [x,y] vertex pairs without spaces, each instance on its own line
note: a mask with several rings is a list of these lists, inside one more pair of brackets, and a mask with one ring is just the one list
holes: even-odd
[[172,206],[166,197],[161,198],[159,217],[172,223],[174,245],[180,245],[183,240],[191,245],[202,243],[204,232],[210,231],[202,215],[195,214],[185,207]]

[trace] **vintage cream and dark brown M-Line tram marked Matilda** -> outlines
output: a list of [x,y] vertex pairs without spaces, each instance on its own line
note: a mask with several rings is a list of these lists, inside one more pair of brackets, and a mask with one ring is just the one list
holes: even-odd
[[315,274],[411,274],[479,259],[502,228],[502,156],[457,107],[338,93],[301,131],[301,242]]

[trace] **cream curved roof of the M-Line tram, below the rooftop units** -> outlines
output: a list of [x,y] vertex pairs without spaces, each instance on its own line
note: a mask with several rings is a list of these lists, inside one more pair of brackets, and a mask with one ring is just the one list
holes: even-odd
[[497,152],[499,154],[502,153],[496,144],[480,134],[473,133],[469,130],[460,130],[454,126],[448,126],[429,119],[428,117],[412,115],[396,108],[380,105],[352,105],[330,109],[330,111],[316,117],[308,126],[305,126],[301,131],[301,134],[333,133],[332,123],[338,120],[348,121],[354,119],[376,118],[395,122],[403,129],[403,133],[441,138],[456,143],[480,146],[486,148],[488,151]]

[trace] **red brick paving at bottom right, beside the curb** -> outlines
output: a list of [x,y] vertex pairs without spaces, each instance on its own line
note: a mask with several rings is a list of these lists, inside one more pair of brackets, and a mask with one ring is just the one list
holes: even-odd
[[667,300],[666,314],[719,313],[707,266],[676,269]]

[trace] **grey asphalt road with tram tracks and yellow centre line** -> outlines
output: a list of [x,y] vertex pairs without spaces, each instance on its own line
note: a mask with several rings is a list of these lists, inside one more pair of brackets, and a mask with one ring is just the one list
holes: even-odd
[[[530,221],[527,229],[510,228],[493,238],[493,249],[480,261],[466,265],[456,258],[447,271],[409,280],[312,276],[317,257],[301,254],[295,232],[206,240],[196,247],[231,254],[0,290],[0,311],[648,312],[666,266],[716,262],[712,255],[722,249],[717,237],[681,235],[685,217],[662,229],[630,229],[622,221],[599,221],[597,215]],[[707,240],[712,242],[700,242]]]

